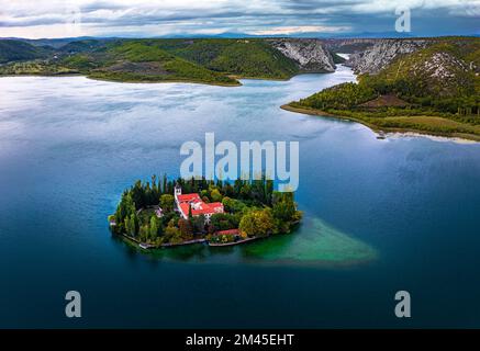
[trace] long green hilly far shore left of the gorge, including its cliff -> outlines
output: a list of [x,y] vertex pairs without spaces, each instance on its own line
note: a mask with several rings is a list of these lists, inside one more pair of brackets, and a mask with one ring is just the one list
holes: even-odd
[[[289,39],[286,39],[287,42]],[[267,39],[82,39],[59,47],[0,41],[0,75],[83,73],[119,81],[196,81],[238,84],[237,78],[288,79],[303,71],[333,71],[320,41],[305,53]],[[276,45],[277,44],[277,45]],[[302,52],[303,49],[303,52]],[[308,57],[304,57],[308,55]]]

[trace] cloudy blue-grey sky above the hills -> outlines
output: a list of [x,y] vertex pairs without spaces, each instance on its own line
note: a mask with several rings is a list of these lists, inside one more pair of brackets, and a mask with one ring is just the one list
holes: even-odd
[[0,0],[0,37],[480,34],[480,0]]

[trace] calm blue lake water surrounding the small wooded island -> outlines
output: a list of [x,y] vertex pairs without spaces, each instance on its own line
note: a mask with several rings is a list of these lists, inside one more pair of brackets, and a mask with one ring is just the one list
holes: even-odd
[[[480,327],[480,144],[376,138],[279,106],[341,67],[239,88],[0,79],[0,327]],[[293,235],[145,254],[107,225],[186,140],[300,141]],[[65,317],[65,293],[82,318]],[[412,318],[393,314],[397,291]]]

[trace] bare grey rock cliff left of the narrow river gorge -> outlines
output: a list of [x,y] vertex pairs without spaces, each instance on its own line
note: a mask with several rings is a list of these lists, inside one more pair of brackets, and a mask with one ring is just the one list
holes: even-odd
[[333,57],[320,39],[280,38],[268,42],[284,56],[294,60],[302,71],[335,71]]

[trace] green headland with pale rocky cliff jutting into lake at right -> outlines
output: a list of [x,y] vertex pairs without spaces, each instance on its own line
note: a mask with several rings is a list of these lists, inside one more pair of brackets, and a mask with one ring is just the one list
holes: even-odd
[[282,109],[351,120],[379,138],[414,132],[480,141],[480,38],[383,39],[348,64],[357,82]]

